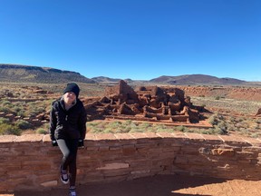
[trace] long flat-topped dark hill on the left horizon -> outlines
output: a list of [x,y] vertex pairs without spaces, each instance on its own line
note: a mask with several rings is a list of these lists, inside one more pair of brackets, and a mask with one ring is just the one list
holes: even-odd
[[80,73],[63,71],[59,69],[18,65],[0,64],[0,82],[18,83],[95,83]]

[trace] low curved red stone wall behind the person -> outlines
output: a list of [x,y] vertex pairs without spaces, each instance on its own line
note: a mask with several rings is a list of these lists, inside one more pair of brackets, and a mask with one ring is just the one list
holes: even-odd
[[[196,133],[87,134],[78,184],[156,174],[261,180],[261,140]],[[62,186],[49,135],[0,136],[0,192]]]

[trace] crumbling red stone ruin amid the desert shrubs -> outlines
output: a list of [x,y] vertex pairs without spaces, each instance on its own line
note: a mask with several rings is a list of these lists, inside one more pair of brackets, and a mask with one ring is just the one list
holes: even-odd
[[203,107],[193,106],[179,88],[140,86],[124,81],[107,87],[104,96],[83,100],[88,120],[124,119],[149,122],[199,122]]

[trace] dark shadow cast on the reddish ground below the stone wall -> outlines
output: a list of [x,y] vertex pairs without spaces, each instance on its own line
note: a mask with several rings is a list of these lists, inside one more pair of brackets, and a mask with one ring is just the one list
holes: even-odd
[[[157,175],[132,181],[120,181],[78,186],[79,196],[210,196],[209,194],[179,193],[181,189],[197,188],[227,180],[184,175]],[[50,191],[14,192],[14,196],[62,196],[68,194],[67,187]]]

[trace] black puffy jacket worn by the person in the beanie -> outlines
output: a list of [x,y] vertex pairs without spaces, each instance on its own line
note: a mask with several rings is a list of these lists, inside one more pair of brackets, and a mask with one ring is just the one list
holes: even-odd
[[64,108],[63,99],[54,101],[50,113],[49,132],[51,140],[84,140],[86,121],[86,111],[79,99],[68,111]]

